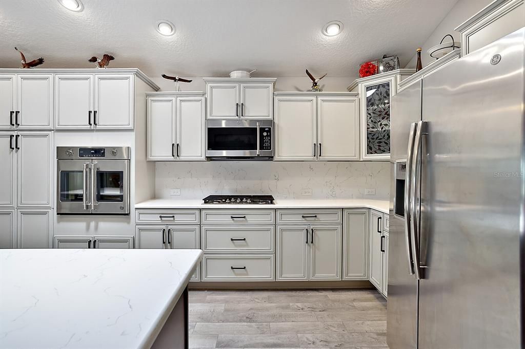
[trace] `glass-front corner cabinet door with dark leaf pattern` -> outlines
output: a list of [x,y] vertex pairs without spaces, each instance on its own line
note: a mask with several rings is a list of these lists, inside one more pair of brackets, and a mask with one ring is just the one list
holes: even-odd
[[390,98],[394,79],[363,83],[360,88],[363,160],[390,159]]

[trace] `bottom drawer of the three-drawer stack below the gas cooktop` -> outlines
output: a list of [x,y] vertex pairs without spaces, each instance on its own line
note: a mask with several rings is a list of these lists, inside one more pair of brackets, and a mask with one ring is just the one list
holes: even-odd
[[204,255],[203,281],[272,281],[274,255]]

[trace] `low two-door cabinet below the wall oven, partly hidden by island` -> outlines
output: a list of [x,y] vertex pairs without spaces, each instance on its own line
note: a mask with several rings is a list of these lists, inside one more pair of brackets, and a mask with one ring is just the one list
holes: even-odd
[[56,235],[55,248],[133,248],[133,236]]

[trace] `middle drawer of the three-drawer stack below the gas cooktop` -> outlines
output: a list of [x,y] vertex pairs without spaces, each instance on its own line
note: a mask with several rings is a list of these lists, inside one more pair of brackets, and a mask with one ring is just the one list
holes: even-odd
[[204,252],[274,252],[274,226],[203,226]]

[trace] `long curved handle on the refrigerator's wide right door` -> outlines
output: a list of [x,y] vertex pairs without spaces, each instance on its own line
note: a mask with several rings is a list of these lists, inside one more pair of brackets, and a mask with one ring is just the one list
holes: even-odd
[[[419,231],[421,228],[420,215],[421,205],[416,205],[419,202],[417,199],[420,196],[419,190],[421,186],[418,186],[418,179],[421,180],[421,143],[423,134],[426,134],[427,124],[424,121],[417,123],[416,136],[414,139],[414,156],[412,158],[412,178],[411,178],[411,213],[412,213],[412,258],[414,258],[414,274],[416,279],[421,279],[421,261],[419,260]],[[421,200],[421,198],[419,198]],[[419,206],[419,207],[418,207]]]

